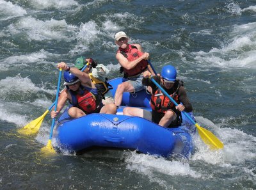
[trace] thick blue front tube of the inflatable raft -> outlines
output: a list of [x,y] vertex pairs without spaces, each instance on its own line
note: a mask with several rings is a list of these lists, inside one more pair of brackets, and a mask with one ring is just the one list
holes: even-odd
[[140,117],[90,114],[62,123],[56,139],[60,148],[70,152],[102,146],[168,157],[173,153],[189,155],[189,137],[179,128],[166,129]]

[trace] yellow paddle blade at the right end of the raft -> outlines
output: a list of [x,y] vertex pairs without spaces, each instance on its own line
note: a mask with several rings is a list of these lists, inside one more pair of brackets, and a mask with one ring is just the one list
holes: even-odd
[[207,131],[203,127],[200,127],[198,123],[195,123],[196,128],[198,129],[198,133],[205,144],[209,145],[211,149],[221,149],[223,148],[223,143],[212,134],[212,132]]

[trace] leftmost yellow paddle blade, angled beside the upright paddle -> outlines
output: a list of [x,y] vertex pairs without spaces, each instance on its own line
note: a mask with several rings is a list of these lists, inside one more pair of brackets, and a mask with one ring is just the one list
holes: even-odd
[[25,134],[25,135],[35,134],[36,132],[39,131],[39,128],[48,112],[49,110],[47,109],[47,111],[45,111],[45,113],[42,116],[28,123],[28,125],[26,125],[22,129],[19,129],[18,132],[20,134]]

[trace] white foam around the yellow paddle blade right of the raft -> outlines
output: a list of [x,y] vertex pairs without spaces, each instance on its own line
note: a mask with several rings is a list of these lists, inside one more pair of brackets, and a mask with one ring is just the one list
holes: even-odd
[[196,146],[196,152],[191,156],[193,161],[203,160],[210,164],[238,164],[244,161],[253,161],[256,157],[256,138],[248,135],[238,129],[220,128],[214,125],[210,120],[202,117],[196,117],[198,123],[208,131],[211,131],[220,139],[224,148],[222,150],[210,150],[205,145],[198,133],[193,136]]

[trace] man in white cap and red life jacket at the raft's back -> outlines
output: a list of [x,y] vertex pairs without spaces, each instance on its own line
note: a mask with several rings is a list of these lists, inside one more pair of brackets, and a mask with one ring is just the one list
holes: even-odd
[[[116,52],[116,59],[121,65],[120,72],[124,72],[125,81],[118,85],[115,93],[115,104],[120,106],[122,102],[123,93],[129,91],[136,93],[144,89],[142,84],[142,74],[148,70],[149,54],[142,52],[140,44],[128,44],[129,38],[124,31],[119,31],[115,34],[115,44],[119,46]],[[150,72],[153,74],[152,70]],[[154,75],[154,74],[153,74]]]

